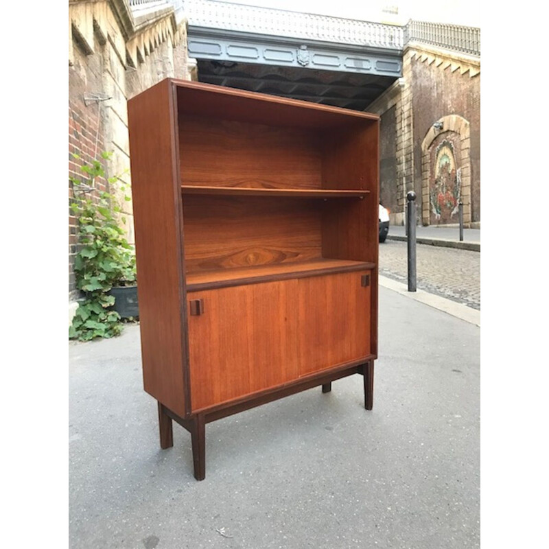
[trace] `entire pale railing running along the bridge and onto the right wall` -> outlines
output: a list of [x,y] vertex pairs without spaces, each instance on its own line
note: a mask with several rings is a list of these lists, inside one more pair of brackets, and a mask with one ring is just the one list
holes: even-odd
[[445,23],[409,21],[386,25],[326,15],[211,0],[128,0],[133,12],[172,5],[196,27],[321,40],[401,50],[419,42],[480,56],[480,29]]

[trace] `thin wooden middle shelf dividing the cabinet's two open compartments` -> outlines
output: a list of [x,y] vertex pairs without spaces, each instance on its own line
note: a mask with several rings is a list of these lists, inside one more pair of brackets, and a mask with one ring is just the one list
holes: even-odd
[[183,194],[219,196],[293,196],[296,198],[364,198],[365,189],[272,189],[263,187],[210,187],[181,185]]

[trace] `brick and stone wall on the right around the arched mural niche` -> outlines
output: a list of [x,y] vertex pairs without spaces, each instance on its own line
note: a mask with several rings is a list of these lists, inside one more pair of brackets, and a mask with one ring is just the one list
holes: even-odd
[[[448,141],[459,143],[455,153],[465,224],[480,226],[480,59],[411,44],[402,73],[367,109],[381,116],[380,196],[391,223],[404,224],[410,190],[417,194],[418,221],[432,222],[429,148],[448,132]],[[442,130],[434,129],[436,122]]]

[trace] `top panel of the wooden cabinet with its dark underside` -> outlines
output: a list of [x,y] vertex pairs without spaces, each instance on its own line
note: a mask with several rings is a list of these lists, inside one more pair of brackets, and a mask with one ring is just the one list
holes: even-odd
[[377,115],[357,110],[201,82],[170,80],[176,87],[180,114],[303,128],[351,128],[379,121]]

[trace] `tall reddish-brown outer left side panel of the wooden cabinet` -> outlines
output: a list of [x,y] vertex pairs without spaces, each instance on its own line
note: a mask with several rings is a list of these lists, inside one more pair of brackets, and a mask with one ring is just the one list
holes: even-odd
[[169,81],[128,102],[128,126],[143,383],[185,416],[181,198]]

